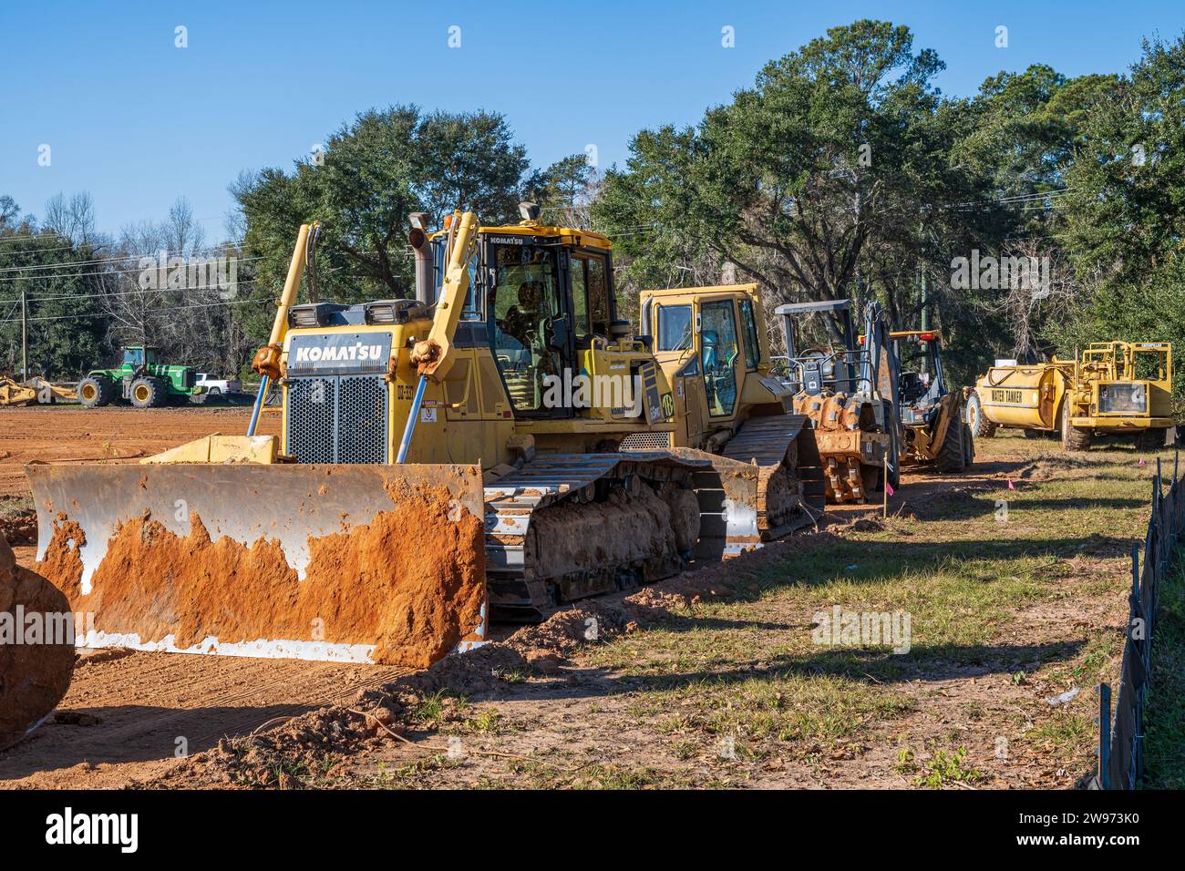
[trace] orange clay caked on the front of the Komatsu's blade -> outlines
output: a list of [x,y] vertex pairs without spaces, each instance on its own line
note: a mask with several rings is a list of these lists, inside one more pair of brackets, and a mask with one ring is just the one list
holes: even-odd
[[277,542],[211,542],[197,514],[184,538],[148,518],[122,524],[88,595],[75,524],[56,525],[37,565],[100,632],[172,634],[181,648],[207,635],[376,645],[376,662],[422,668],[482,621],[482,523],[450,519],[451,505],[446,488],[419,487],[370,524],[310,539],[303,579]]

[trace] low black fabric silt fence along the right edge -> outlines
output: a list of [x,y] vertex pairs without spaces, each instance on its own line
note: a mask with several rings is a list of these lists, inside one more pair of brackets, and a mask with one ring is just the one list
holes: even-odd
[[1090,789],[1135,789],[1144,776],[1144,707],[1152,672],[1152,630],[1157,620],[1160,584],[1168,575],[1173,546],[1185,526],[1185,482],[1178,478],[1179,454],[1173,456],[1173,476],[1165,491],[1159,457],[1152,482],[1152,515],[1140,545],[1132,545],[1132,593],[1123,665],[1112,711],[1112,687],[1098,687],[1098,771]]

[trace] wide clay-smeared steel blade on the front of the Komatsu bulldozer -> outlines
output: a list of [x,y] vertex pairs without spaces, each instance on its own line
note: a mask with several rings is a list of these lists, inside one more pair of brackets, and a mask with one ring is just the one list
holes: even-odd
[[478,468],[25,472],[79,646],[424,667],[485,636]]

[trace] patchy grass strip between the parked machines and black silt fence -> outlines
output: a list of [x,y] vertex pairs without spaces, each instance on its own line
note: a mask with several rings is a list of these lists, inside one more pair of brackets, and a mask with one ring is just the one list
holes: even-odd
[[[1066,455],[1017,436],[976,450],[971,474],[907,475],[888,520],[872,506],[833,512],[819,532],[710,570],[743,579],[726,598],[589,645],[558,673],[453,699],[438,723],[451,752],[401,744],[346,780],[1074,787],[1095,767],[1095,686],[1117,680],[1155,455]],[[1161,457],[1171,465],[1172,451]],[[1183,598],[1180,584],[1165,594],[1176,645],[1157,639],[1178,700]],[[908,615],[908,652],[820,635],[837,606],[898,628]],[[1149,769],[1179,786],[1179,702],[1159,722],[1173,748],[1149,750]]]

